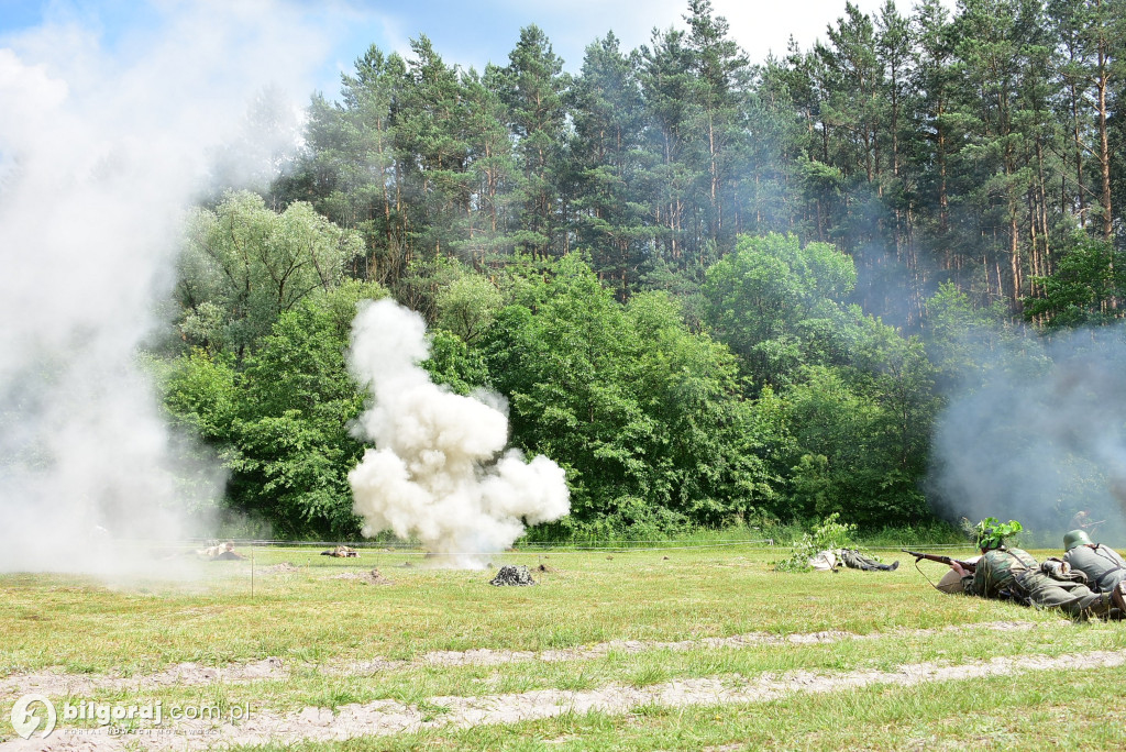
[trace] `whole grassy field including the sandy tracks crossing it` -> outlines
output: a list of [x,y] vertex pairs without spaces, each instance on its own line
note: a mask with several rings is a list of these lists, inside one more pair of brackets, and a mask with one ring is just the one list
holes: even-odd
[[[199,749],[1126,745],[1121,624],[944,596],[902,559],[891,573],[784,574],[770,563],[787,549],[537,549],[464,571],[318,550],[258,548],[253,565],[205,563],[177,582],[0,576],[0,738],[19,742],[12,704],[41,691],[60,707],[159,700],[258,719],[213,723]],[[506,563],[538,585],[491,587]],[[373,567],[388,582],[360,576]]]

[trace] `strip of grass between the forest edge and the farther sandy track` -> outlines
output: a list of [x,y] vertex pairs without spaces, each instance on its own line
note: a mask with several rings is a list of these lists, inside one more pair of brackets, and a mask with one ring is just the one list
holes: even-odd
[[[204,564],[202,579],[186,583],[7,575],[0,578],[7,637],[0,671],[61,665],[128,673],[266,655],[315,662],[749,632],[866,634],[1012,614],[1001,603],[944,597],[910,566],[777,573],[770,562],[781,553],[509,553],[494,557],[490,570],[465,571],[427,569],[400,552],[331,559],[311,549],[263,550],[256,554],[253,594],[249,562]],[[267,573],[280,562],[302,569]],[[548,571],[534,569],[536,588],[493,588],[488,582],[501,563]],[[333,579],[373,566],[393,584]],[[929,571],[941,574],[940,566]]]

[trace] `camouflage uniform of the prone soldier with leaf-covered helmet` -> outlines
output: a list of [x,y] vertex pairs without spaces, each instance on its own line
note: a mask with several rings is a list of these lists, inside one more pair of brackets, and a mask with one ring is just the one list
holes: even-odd
[[1096,593],[1081,582],[1051,578],[1020,548],[1002,546],[985,552],[974,572],[962,578],[962,589],[968,596],[1058,608],[1074,619],[1121,616],[1111,593]]

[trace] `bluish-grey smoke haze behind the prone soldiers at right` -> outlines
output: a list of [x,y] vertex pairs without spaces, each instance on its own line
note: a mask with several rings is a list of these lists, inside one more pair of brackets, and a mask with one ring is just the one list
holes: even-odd
[[1061,332],[975,353],[935,437],[942,511],[1018,519],[1046,546],[1082,525],[1101,522],[1096,538],[1126,532],[1124,337]]

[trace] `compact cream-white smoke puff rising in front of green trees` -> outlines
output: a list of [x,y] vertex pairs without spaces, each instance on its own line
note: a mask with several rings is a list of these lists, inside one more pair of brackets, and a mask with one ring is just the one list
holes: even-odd
[[374,402],[357,432],[375,442],[348,475],[364,535],[393,530],[458,566],[481,566],[525,525],[570,509],[563,469],[504,451],[508,418],[497,395],[465,397],[430,382],[422,319],[392,301],[359,312],[349,362]]

